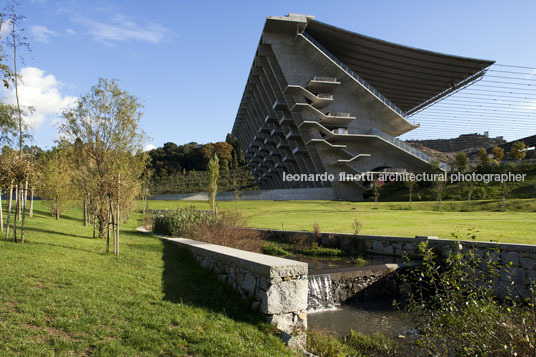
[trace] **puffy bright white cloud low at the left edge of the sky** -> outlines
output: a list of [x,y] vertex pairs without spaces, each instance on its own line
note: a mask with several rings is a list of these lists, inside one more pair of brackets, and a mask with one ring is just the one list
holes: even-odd
[[[24,122],[33,129],[39,128],[45,121],[54,121],[61,112],[74,105],[76,97],[62,95],[62,83],[52,74],[36,67],[24,67],[20,71],[19,99],[24,107],[33,107],[32,113],[26,113]],[[15,89],[2,89],[6,102],[16,103]]]

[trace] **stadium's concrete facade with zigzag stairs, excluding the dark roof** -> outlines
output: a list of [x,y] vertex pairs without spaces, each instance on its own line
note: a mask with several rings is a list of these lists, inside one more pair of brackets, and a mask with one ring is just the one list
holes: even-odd
[[[311,36],[311,21],[268,17],[253,61],[232,133],[259,187],[332,188],[337,199],[361,200],[371,182],[339,173],[428,169],[432,158],[396,139],[417,125]],[[283,180],[324,172],[335,180]]]

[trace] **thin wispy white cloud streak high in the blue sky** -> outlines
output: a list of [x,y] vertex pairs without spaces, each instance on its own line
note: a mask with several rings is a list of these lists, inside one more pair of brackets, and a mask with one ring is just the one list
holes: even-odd
[[160,24],[147,23],[141,25],[129,20],[122,14],[115,14],[108,22],[96,21],[80,16],[73,17],[72,20],[84,25],[87,28],[87,34],[94,39],[108,44],[129,41],[159,44],[166,36],[173,34],[171,30]]

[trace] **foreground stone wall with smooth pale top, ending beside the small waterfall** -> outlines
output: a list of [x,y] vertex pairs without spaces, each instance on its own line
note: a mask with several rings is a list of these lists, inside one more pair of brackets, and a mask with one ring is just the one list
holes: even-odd
[[203,268],[251,298],[252,309],[301,343],[307,329],[307,263],[186,238],[161,238],[190,250]]

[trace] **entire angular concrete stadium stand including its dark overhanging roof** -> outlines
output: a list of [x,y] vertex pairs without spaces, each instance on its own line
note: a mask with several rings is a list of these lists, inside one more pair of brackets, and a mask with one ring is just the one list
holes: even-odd
[[[324,188],[360,200],[370,182],[338,181],[339,173],[426,169],[431,158],[396,139],[417,127],[407,118],[491,64],[385,42],[311,16],[270,16],[232,133],[262,189]],[[335,181],[283,180],[283,173],[324,172]]]

